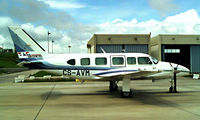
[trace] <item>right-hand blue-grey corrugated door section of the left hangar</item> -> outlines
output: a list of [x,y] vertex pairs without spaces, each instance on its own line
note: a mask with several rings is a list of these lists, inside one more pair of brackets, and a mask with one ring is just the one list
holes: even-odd
[[126,53],[146,53],[148,54],[148,45],[125,45]]

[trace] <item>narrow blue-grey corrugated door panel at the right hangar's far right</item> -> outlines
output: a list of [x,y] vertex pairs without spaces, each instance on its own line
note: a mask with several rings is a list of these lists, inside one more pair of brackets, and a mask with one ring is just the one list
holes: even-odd
[[200,45],[190,46],[190,70],[192,73],[200,73]]

